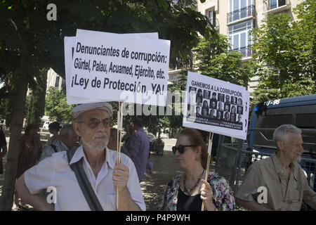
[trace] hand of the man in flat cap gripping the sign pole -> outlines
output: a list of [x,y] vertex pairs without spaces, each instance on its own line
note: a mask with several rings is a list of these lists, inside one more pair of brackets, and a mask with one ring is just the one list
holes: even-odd
[[113,170],[114,191],[119,189],[119,192],[124,191],[127,181],[129,181],[129,167],[119,163],[115,165]]

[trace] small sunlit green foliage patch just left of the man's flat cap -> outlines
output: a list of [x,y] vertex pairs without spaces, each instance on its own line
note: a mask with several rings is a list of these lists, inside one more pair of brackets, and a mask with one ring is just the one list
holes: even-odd
[[74,122],[72,108],[74,105],[67,105],[64,91],[49,87],[46,94],[45,114],[51,118],[51,121]]

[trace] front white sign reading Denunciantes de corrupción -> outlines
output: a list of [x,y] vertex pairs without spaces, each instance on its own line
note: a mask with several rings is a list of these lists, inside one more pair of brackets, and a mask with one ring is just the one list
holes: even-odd
[[78,30],[67,95],[164,106],[169,51],[168,40]]

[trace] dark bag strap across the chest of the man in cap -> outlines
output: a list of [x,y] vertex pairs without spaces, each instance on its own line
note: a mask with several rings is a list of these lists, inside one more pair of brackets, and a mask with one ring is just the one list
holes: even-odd
[[[70,161],[72,160],[72,156],[76,152],[77,148],[73,148],[71,150],[67,150],[67,158],[68,163],[70,165]],[[74,172],[77,177],[78,184],[81,188],[82,193],[84,194],[84,198],[91,209],[91,211],[103,211],[103,208],[96,196],[96,193],[93,191],[93,188],[86,176],[86,172],[84,172],[84,167],[82,165],[82,158],[78,162],[74,162],[70,165],[70,168]]]

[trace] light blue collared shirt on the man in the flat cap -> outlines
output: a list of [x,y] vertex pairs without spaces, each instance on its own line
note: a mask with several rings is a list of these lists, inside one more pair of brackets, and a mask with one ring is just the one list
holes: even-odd
[[[116,210],[116,191],[114,190],[112,176],[117,152],[106,148],[105,162],[97,177],[94,176],[93,170],[86,160],[82,146],[77,148],[70,164],[78,162],[81,158],[84,158],[84,171],[103,210]],[[133,162],[126,155],[121,154],[121,163],[129,167],[127,188],[131,193],[132,200],[141,210],[145,210],[145,202]],[[31,194],[37,194],[41,189],[48,188],[49,186],[55,187],[57,191],[55,210],[90,210],[77,178],[68,164],[66,151],[55,153],[51,157],[39,162],[38,165],[28,169],[25,172],[25,185]]]

